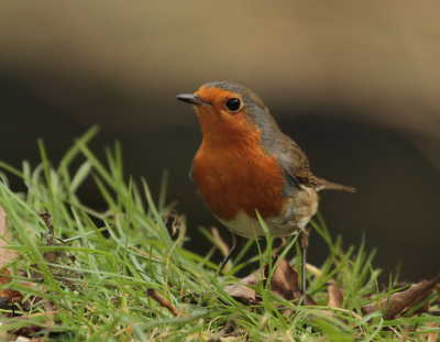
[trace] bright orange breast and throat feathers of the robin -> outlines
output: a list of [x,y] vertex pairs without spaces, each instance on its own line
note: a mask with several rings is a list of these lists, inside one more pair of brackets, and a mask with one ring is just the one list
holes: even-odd
[[[263,219],[283,211],[283,170],[261,146],[261,132],[246,123],[244,114],[204,122],[204,141],[194,161],[193,177],[215,216],[231,221],[240,212]],[[207,119],[209,120],[209,118]]]

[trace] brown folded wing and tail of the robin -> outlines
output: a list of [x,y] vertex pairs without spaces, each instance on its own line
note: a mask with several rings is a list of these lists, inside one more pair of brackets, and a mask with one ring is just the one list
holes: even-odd
[[309,161],[301,148],[288,136],[284,144],[284,159],[287,162],[288,173],[300,184],[314,187],[317,191],[322,189],[348,190],[354,192],[355,189],[331,183],[314,176],[310,172]]

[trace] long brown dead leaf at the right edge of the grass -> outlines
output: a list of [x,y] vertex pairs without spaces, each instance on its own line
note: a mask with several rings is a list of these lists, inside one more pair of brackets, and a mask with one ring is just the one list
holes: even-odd
[[[418,284],[413,284],[407,290],[391,295],[388,309],[384,315],[384,320],[392,320],[398,315],[408,312],[411,308],[417,306],[420,301],[426,299],[433,290],[436,283],[439,282],[440,274],[431,282],[421,280]],[[381,300],[381,308],[386,308],[387,298]],[[426,312],[429,309],[429,304],[417,310],[417,312]],[[361,307],[364,316],[378,311],[377,302]]]

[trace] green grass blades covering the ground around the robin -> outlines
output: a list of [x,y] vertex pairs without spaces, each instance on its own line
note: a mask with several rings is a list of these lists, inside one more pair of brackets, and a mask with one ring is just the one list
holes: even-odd
[[[1,169],[21,177],[28,187],[25,194],[13,192],[8,187],[8,178],[0,173],[0,205],[8,214],[13,235],[8,249],[19,253],[6,265],[11,266],[12,282],[1,288],[21,291],[24,300],[30,296],[38,297],[29,311],[15,310],[26,320],[3,317],[3,322],[9,324],[1,326],[0,332],[36,324],[45,328],[37,333],[45,341],[208,341],[231,321],[239,341],[400,341],[387,327],[393,326],[397,333],[416,340],[421,339],[420,329],[438,330],[428,324],[438,324],[440,319],[428,313],[394,321],[384,321],[381,312],[362,318],[360,307],[377,300],[380,294],[376,280],[380,271],[372,267],[374,251],[365,252],[362,244],[343,252],[341,238],[330,236],[320,216],[310,225],[327,242],[329,255],[316,275],[307,273],[308,294],[319,306],[297,307],[273,295],[262,284],[258,287],[262,305],[237,301],[224,287],[235,284],[234,275],[249,263],[260,261],[264,265],[272,260],[271,236],[266,234],[265,251],[257,242],[258,255],[246,255],[249,260],[244,261],[244,252],[255,243],[249,241],[227,275],[216,278],[218,265],[210,261],[210,255],[200,256],[185,250],[185,219],[174,217],[178,220],[174,234],[168,229],[170,222],[164,221],[173,209],[165,196],[167,175],[164,175],[155,203],[145,180],[130,179],[128,184],[124,180],[118,143],[113,151],[106,150],[107,165],[87,147],[96,132],[92,129],[78,139],[57,167],[48,161],[42,141],[38,142],[42,164],[35,169],[26,162],[21,170],[0,162]],[[75,158],[85,161],[73,172]],[[87,208],[76,195],[88,177],[95,179],[108,203],[105,212]],[[47,228],[31,208],[53,216],[55,236],[63,238],[68,246],[42,245],[40,236]],[[204,234],[216,243],[209,231],[204,230]],[[286,245],[283,255],[296,246],[292,239]],[[70,253],[76,257],[76,265],[47,264],[44,252]],[[290,264],[297,265],[299,271],[297,257]],[[84,278],[70,278],[75,286],[66,286],[48,266],[79,271]],[[30,280],[32,269],[41,273],[44,279],[33,280],[36,284],[33,289],[20,284]],[[28,277],[19,277],[19,271],[24,271]],[[328,309],[324,307],[328,301],[326,283],[330,278],[344,293],[343,309],[330,309],[331,317],[322,313],[322,309]],[[392,283],[395,280],[391,278]],[[154,288],[186,317],[174,317],[152,300],[148,288]],[[199,295],[205,291],[206,296]],[[380,296],[391,293],[389,289]],[[433,310],[438,309],[437,299],[438,295],[429,298]],[[42,301],[52,301],[56,310],[46,313],[40,305]],[[282,308],[293,309],[294,315],[283,317]],[[418,331],[413,332],[416,324]]]

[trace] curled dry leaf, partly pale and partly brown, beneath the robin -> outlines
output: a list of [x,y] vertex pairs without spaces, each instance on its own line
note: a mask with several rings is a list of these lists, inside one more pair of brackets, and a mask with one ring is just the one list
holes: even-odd
[[[272,266],[275,266],[275,263],[278,260],[278,255],[273,255]],[[268,264],[263,267],[263,284],[267,282],[268,278]],[[298,273],[290,266],[287,260],[283,258],[276,269],[273,273],[271,279],[271,291],[286,300],[299,299],[302,295],[299,289],[298,284]],[[246,285],[258,286],[257,283],[261,279],[261,268],[257,269],[254,274],[241,279],[238,284],[228,286],[224,290],[227,294],[231,295],[234,298],[244,299],[246,301],[253,304],[262,304],[262,297],[260,294],[255,293],[253,289],[249,288]],[[307,296],[307,305],[316,306],[317,304],[310,296]]]

